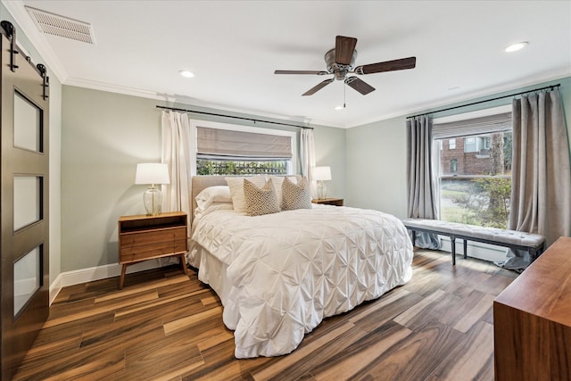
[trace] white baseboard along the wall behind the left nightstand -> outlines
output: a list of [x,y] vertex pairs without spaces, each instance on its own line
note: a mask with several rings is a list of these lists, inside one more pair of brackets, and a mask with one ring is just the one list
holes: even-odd
[[[178,263],[178,259],[159,258],[150,261],[137,262],[128,266],[127,274],[144,271],[145,269],[157,269],[163,266],[169,266],[173,263]],[[121,268],[122,266],[119,263],[112,263],[88,269],[76,269],[62,272],[54,279],[54,282],[50,284],[50,305],[54,302],[55,297],[60,293],[63,287],[79,285],[80,283],[92,282],[94,280],[105,279],[107,277],[119,277],[121,275]],[[117,285],[119,286],[119,283]]]

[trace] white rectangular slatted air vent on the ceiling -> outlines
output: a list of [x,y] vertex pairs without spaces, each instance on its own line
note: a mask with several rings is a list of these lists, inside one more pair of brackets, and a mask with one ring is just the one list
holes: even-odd
[[42,11],[26,5],[26,11],[41,32],[70,38],[76,41],[95,44],[95,37],[91,24],[77,21],[52,12]]

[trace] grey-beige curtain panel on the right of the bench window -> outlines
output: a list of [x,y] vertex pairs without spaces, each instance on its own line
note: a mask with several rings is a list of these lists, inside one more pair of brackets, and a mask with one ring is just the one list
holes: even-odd
[[513,103],[509,228],[545,236],[548,247],[571,236],[571,170],[559,89]]

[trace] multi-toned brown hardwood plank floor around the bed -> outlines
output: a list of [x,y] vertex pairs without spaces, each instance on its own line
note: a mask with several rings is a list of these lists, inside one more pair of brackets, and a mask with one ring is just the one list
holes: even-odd
[[415,252],[410,283],[329,318],[294,352],[236,360],[218,297],[176,267],[62,289],[17,380],[492,380],[492,301],[517,277]]

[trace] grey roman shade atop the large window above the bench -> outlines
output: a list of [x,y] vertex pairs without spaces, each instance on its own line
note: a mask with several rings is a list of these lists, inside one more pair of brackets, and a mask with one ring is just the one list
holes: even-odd
[[440,124],[434,123],[432,127],[432,138],[468,137],[470,135],[488,134],[510,129],[511,112],[503,112],[468,120],[457,120]]

